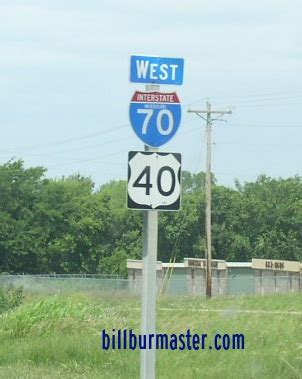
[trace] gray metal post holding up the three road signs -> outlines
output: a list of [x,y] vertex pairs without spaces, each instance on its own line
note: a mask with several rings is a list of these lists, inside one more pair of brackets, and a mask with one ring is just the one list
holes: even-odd
[[[147,85],[146,91],[159,91],[159,85]],[[146,151],[157,151],[145,145]],[[142,334],[156,333],[156,262],[158,244],[158,211],[143,211],[143,285]],[[148,343],[148,339],[147,339]],[[155,348],[141,350],[141,379],[155,379]]]

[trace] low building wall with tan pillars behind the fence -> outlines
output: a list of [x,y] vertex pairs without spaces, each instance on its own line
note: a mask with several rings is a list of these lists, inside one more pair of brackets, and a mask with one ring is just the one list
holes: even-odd
[[[166,275],[167,267],[157,269],[158,293],[180,296],[205,296],[206,271],[202,267],[174,267]],[[130,290],[141,293],[142,270],[128,268]],[[288,272],[238,267],[212,269],[212,295],[243,295],[302,292],[302,272]]]

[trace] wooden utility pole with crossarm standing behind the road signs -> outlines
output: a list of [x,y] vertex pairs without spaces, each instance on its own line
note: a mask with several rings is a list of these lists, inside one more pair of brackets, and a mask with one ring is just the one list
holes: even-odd
[[[211,104],[207,102],[206,110],[192,110],[189,109],[188,112],[195,113],[197,116],[204,119],[206,124],[206,134],[207,134],[207,160],[206,160],[206,296],[208,298],[212,297],[212,170],[211,170],[211,133],[212,133],[212,114],[218,115],[218,117],[224,114],[231,114],[232,111],[213,111],[211,109]],[[206,114],[206,117],[203,116]]]

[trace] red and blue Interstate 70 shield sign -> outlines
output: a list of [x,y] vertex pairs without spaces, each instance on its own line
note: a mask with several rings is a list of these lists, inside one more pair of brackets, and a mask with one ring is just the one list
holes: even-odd
[[181,106],[175,92],[136,91],[130,103],[130,121],[136,135],[147,145],[159,147],[179,128]]

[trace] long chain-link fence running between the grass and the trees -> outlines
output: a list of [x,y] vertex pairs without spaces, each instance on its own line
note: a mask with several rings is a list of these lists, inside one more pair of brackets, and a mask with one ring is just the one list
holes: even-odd
[[[213,296],[302,292],[301,275],[229,275],[212,278]],[[0,275],[0,286],[22,286],[27,293],[93,293],[139,296],[141,278],[122,279],[102,275]],[[168,296],[205,296],[205,279],[171,277],[158,280],[158,294]]]

